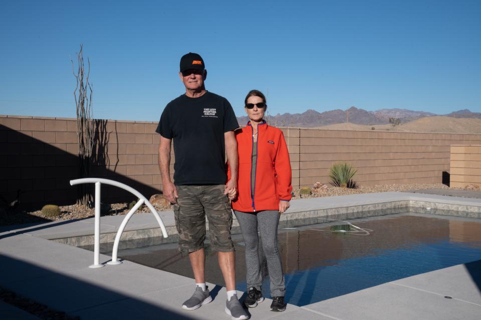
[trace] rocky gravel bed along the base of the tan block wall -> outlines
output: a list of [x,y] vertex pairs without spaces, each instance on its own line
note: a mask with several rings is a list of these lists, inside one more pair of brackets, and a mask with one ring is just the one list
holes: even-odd
[[[332,196],[332,195],[346,195],[354,193],[373,193],[373,192],[388,192],[388,191],[409,191],[415,189],[448,189],[444,184],[441,183],[429,183],[429,184],[382,184],[382,185],[372,185],[372,186],[359,186],[355,189],[341,188],[334,186],[327,186],[326,189],[319,189],[316,191],[313,189],[312,194],[300,194],[300,189],[294,190],[293,199],[299,198],[311,198],[319,196]],[[171,210],[172,206],[161,206],[157,207],[158,211]],[[34,222],[47,222],[47,221],[59,221],[59,220],[70,220],[70,219],[81,219],[94,216],[94,208],[90,208],[84,205],[72,204],[72,205],[61,205],[61,214],[58,217],[46,217],[42,214],[40,210],[37,211],[25,211],[25,210],[6,210],[0,208],[0,225],[13,225],[13,224],[23,224],[23,223],[34,223]],[[112,203],[110,204],[110,210],[105,212],[103,215],[119,215],[128,213],[128,203]],[[149,212],[147,206],[142,206],[140,209],[142,212]]]

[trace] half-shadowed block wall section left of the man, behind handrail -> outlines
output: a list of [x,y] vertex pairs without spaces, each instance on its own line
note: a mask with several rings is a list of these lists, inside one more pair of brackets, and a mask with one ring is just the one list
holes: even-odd
[[[159,135],[148,121],[95,120],[91,176],[126,183],[145,196],[160,192]],[[72,118],[0,115],[0,196],[22,205],[75,203],[79,177],[77,122]],[[173,157],[171,163],[173,172]],[[102,187],[106,201],[129,200],[130,193]]]

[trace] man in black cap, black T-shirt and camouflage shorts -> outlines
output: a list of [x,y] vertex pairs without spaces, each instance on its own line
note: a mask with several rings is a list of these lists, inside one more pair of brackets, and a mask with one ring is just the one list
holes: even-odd
[[[194,310],[212,298],[205,285],[205,216],[209,221],[210,245],[218,251],[219,267],[225,280],[225,312],[232,319],[249,316],[235,291],[235,255],[230,227],[232,211],[226,194],[237,184],[237,143],[233,130],[238,127],[230,103],[205,90],[204,61],[197,53],[180,59],[180,79],[185,94],[170,101],[160,117],[159,166],[165,197],[174,203],[179,250],[189,255],[195,277],[195,291],[182,307]],[[170,142],[173,139],[174,183],[170,181]],[[224,154],[231,163],[227,180]],[[232,168],[234,170],[232,171]]]

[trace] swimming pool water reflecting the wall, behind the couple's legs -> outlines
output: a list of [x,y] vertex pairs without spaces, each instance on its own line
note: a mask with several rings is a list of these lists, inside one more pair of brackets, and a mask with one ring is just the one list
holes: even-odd
[[[385,282],[481,259],[481,221],[406,213],[279,229],[289,303],[306,305]],[[344,230],[345,232],[343,232]],[[246,290],[245,249],[233,236],[237,289]],[[262,256],[262,252],[260,252]],[[137,263],[193,277],[176,244],[119,251]],[[263,293],[269,276],[263,265]],[[224,285],[215,252],[206,245],[206,280]]]

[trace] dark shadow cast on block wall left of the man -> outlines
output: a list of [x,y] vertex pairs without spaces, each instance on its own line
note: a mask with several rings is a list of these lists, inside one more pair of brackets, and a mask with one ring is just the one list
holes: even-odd
[[[159,193],[160,190],[117,172],[120,156],[124,155],[119,152],[125,153],[119,150],[117,130],[109,132],[107,120],[95,120],[94,127],[90,176],[125,183],[147,198]],[[17,209],[38,210],[45,204],[76,202],[78,186],[69,183],[80,177],[78,155],[70,153],[76,151],[68,152],[67,143],[45,142],[1,124],[0,132],[0,214],[11,214]],[[91,183],[85,185],[92,187]],[[133,199],[135,197],[126,190],[102,186],[102,202]]]

